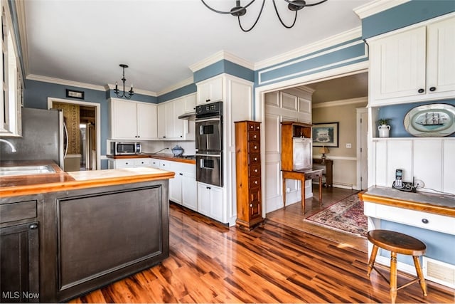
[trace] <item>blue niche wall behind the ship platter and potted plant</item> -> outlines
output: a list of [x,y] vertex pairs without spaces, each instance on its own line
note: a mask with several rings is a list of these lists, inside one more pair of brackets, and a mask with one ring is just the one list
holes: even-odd
[[[406,103],[403,105],[387,105],[379,109],[379,117],[392,119],[389,123],[390,137],[414,137],[405,130],[405,125],[403,123],[405,115],[412,108],[418,107],[419,105],[429,105],[433,103],[446,103],[455,106],[455,99],[429,101],[425,103]],[[449,137],[455,137],[455,134],[449,135]]]

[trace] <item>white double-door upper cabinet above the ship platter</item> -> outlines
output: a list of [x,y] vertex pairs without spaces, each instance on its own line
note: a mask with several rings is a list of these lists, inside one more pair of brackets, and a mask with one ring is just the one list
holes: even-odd
[[455,17],[368,41],[370,106],[453,98]]

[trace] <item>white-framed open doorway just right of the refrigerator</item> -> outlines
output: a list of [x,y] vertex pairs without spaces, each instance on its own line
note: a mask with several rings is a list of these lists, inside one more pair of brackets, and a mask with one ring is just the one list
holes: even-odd
[[65,171],[100,169],[100,105],[48,98],[48,108],[63,110],[68,130]]

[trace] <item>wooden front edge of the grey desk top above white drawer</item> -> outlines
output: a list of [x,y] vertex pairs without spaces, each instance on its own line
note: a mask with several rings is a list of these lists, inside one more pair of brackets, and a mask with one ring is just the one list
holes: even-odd
[[412,209],[417,211],[424,211],[433,214],[439,214],[444,216],[455,216],[455,209],[446,206],[437,206],[427,203],[419,203],[417,201],[405,201],[403,199],[392,199],[385,196],[376,196],[360,192],[358,194],[361,201],[368,201],[376,204],[382,204],[387,206],[394,206],[404,209]]

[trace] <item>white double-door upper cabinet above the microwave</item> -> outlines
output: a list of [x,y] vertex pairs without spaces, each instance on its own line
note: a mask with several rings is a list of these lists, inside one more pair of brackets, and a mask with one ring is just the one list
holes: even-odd
[[109,115],[112,140],[156,140],[156,105],[112,98]]

